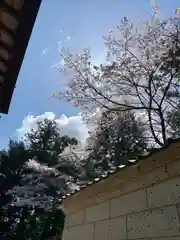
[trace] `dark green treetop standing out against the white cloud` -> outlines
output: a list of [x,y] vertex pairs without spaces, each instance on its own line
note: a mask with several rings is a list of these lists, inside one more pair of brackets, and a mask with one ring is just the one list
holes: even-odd
[[58,155],[69,145],[77,145],[75,138],[61,136],[57,123],[45,119],[37,123],[37,128],[26,134],[26,142],[31,150],[32,158],[48,166],[57,164]]

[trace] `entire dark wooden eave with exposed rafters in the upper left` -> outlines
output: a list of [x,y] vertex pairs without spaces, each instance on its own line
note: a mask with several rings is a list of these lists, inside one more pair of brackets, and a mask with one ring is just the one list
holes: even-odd
[[41,0],[0,0],[0,113],[7,114]]

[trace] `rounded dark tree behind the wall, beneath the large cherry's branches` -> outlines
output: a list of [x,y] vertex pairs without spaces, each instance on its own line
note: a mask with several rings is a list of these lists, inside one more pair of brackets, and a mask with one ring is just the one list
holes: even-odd
[[[126,164],[147,149],[145,129],[131,112],[104,112],[95,131],[95,142],[89,146],[89,159],[95,168],[108,170]],[[90,138],[91,144],[93,137]]]

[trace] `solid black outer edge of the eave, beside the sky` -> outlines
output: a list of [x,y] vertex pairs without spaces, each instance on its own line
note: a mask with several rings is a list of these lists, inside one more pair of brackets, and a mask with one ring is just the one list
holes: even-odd
[[[12,51],[12,58],[8,60],[8,72],[5,75],[3,88],[3,100],[1,112],[7,114],[9,111],[13,91],[17,82],[20,68],[25,56],[25,52],[31,37],[34,23],[41,5],[41,0],[25,1],[20,16],[20,25],[16,32],[15,44]],[[17,51],[18,50],[18,51]]]

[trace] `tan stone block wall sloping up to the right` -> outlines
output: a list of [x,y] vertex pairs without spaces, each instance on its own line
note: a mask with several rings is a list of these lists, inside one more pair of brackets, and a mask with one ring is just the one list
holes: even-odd
[[64,240],[180,239],[180,143],[64,201]]

